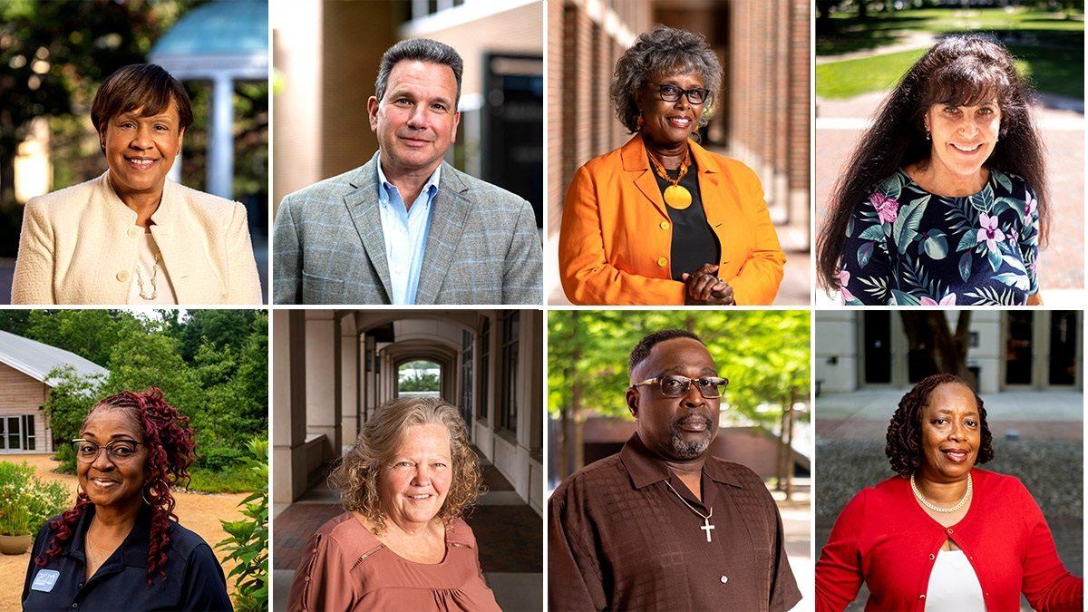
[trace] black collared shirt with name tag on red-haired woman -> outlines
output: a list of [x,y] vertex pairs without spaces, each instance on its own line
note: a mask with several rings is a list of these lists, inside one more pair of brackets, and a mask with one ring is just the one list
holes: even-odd
[[154,584],[147,584],[151,511],[146,505],[133,530],[85,584],[83,540],[94,516],[95,506],[88,504],[72,539],[45,567],[36,561],[52,543],[52,530],[48,523],[41,527],[23,585],[23,610],[232,610],[211,547],[176,523],[170,526],[166,576],[156,574]]

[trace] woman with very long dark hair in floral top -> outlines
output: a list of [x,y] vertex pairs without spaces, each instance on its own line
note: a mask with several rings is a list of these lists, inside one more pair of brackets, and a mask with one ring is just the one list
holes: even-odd
[[943,38],[877,112],[837,183],[818,277],[848,305],[1039,304],[1042,143],[1013,57]]

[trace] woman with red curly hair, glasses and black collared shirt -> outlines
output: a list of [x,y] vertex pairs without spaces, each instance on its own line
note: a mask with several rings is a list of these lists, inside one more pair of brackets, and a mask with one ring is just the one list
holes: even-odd
[[231,610],[215,554],[174,514],[188,420],[153,387],[90,408],[72,441],[79,495],[38,533],[23,610]]

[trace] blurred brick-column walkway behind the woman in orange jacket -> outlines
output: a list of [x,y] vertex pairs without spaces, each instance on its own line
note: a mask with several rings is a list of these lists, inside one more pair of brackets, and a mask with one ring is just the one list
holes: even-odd
[[786,250],[775,304],[807,305],[809,280],[809,2],[552,0],[548,11],[548,242],[545,294],[569,304],[557,273],[562,200],[574,171],[627,143],[608,98],[616,61],[655,24],[706,37],[725,68],[710,150],[751,167]]

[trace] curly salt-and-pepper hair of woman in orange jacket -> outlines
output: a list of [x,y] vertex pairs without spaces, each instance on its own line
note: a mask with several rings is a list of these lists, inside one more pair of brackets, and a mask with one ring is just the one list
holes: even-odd
[[616,62],[608,95],[616,117],[632,134],[639,131],[639,107],[634,94],[651,79],[669,74],[698,73],[710,96],[703,102],[702,127],[710,120],[714,98],[721,87],[721,62],[702,35],[658,25],[639,38]]

